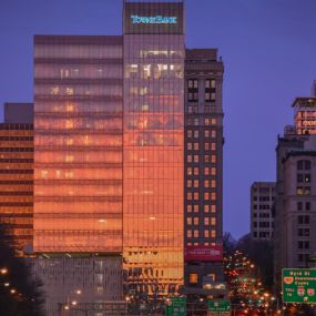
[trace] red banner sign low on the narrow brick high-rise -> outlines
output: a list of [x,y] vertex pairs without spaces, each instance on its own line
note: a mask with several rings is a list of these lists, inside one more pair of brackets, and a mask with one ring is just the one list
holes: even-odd
[[223,246],[187,246],[184,248],[184,261],[221,262],[223,261]]

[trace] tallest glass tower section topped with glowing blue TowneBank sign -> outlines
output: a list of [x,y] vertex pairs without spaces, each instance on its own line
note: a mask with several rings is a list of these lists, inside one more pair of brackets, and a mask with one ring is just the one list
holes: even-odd
[[183,285],[183,3],[125,1],[123,45],[125,292],[164,295]]

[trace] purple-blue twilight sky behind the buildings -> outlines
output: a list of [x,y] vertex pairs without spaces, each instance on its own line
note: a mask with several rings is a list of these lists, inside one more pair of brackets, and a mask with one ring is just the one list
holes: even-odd
[[[275,179],[290,103],[316,79],[315,0],[187,0],[186,45],[225,63],[224,230],[249,231],[249,186]],[[0,103],[32,101],[33,34],[121,34],[122,0],[0,0]],[[0,115],[2,119],[2,113]]]

